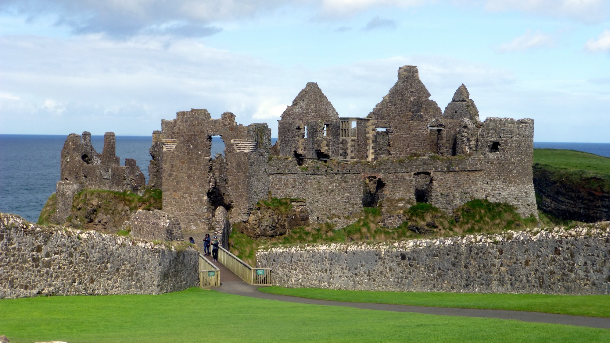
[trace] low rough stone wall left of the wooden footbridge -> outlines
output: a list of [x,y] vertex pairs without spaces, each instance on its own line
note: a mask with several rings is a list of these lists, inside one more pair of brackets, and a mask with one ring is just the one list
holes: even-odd
[[0,213],[0,298],[181,291],[198,285],[198,267],[192,248],[39,227]]

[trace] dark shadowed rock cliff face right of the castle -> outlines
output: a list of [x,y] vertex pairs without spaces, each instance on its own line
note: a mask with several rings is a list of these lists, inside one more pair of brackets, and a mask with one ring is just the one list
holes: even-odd
[[559,219],[583,222],[610,219],[610,180],[607,175],[567,171],[536,163],[534,189],[538,208]]

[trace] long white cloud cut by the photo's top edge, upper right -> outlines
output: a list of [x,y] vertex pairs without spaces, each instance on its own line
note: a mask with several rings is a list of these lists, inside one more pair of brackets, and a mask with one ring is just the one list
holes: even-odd
[[608,0],[483,0],[487,10],[517,10],[550,16],[563,16],[586,22],[608,18]]

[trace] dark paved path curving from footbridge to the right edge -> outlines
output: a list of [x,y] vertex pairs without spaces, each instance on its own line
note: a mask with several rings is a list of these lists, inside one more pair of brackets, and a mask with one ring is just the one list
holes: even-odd
[[[220,263],[218,263],[218,264],[220,264]],[[220,266],[222,266],[222,264],[220,264]],[[225,274],[223,274],[223,272],[221,272],[221,274],[220,274],[221,285],[219,288],[215,288],[217,291],[220,291],[223,293],[228,293],[228,294],[244,295],[246,297],[254,297],[254,298],[259,298],[259,299],[279,300],[282,302],[293,302],[293,303],[307,303],[307,304],[313,304],[313,305],[347,306],[347,307],[365,308],[365,309],[380,309],[382,311],[440,314],[442,316],[516,319],[516,320],[522,320],[523,322],[566,324],[566,325],[576,325],[578,327],[610,329],[610,318],[569,316],[568,314],[553,314],[553,313],[539,313],[539,312],[525,312],[525,311],[506,311],[504,309],[470,309],[470,308],[389,305],[389,304],[379,304],[379,303],[349,303],[349,302],[334,302],[334,301],[330,301],[330,300],[317,300],[317,299],[306,299],[306,298],[300,298],[300,297],[290,297],[288,295],[263,293],[257,289],[260,286],[250,286],[243,281],[229,281],[224,278],[224,275]],[[235,275],[235,274],[233,274],[233,275]],[[237,275],[235,275],[235,277],[237,277]]]

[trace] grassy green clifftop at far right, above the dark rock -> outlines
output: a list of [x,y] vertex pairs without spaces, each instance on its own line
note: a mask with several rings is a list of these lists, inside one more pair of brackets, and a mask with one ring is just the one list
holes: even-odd
[[534,149],[534,164],[554,168],[610,174],[610,158],[588,152],[564,149]]

